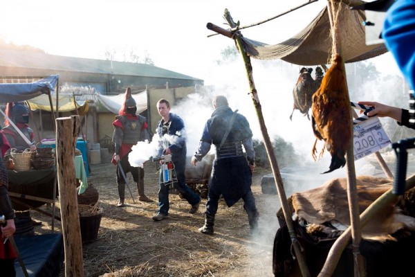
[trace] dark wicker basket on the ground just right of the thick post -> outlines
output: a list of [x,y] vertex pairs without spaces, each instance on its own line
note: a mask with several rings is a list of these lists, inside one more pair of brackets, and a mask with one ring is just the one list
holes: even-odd
[[95,242],[100,229],[102,209],[98,208],[96,204],[94,206],[81,204],[78,205],[78,211],[80,214],[82,244]]

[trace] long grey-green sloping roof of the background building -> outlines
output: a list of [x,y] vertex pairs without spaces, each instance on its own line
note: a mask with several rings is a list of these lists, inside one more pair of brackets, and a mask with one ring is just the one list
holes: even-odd
[[[111,64],[112,63],[112,64]],[[51,71],[74,71],[85,73],[131,75],[183,80],[201,80],[188,75],[162,69],[150,64],[134,62],[111,62],[109,60],[65,57],[37,52],[16,51],[0,48],[0,66],[47,69]]]

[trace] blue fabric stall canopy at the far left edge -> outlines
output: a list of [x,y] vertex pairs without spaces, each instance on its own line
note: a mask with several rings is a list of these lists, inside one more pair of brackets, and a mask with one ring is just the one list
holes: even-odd
[[0,102],[20,102],[54,91],[59,75],[50,75],[36,82],[0,84]]

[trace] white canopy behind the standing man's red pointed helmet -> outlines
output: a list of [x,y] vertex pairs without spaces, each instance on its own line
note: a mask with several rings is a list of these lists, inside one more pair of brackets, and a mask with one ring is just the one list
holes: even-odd
[[[134,98],[134,100],[136,100],[137,114],[140,114],[142,113],[142,111],[145,111],[147,109],[147,90],[137,94],[132,94],[131,96]],[[98,101],[100,102],[100,104],[102,104],[113,114],[118,114],[118,111],[120,111],[124,100],[124,93],[120,93],[116,96],[103,96],[101,94],[98,94]]]

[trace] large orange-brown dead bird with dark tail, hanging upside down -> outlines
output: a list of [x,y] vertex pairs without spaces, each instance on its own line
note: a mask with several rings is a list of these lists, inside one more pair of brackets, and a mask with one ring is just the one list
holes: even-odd
[[[335,55],[320,88],[313,95],[311,106],[311,122],[317,138],[312,151],[313,159],[317,160],[317,140],[323,140],[324,147],[331,154],[329,170],[324,173],[332,172],[346,164],[344,154],[351,140],[350,101],[342,68],[342,57]],[[319,159],[324,153],[324,147]]]

